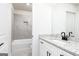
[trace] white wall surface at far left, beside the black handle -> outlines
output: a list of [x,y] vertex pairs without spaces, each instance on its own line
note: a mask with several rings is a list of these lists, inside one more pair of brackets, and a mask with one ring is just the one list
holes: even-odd
[[0,53],[8,53],[11,42],[11,4],[0,4]]

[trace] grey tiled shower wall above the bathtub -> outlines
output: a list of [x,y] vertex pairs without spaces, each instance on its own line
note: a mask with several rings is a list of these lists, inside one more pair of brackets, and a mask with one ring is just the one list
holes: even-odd
[[32,14],[14,14],[13,39],[32,38]]

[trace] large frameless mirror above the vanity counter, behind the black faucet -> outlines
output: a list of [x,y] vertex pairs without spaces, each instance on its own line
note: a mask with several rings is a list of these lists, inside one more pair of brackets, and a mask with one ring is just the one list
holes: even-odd
[[52,7],[52,33],[72,32],[79,36],[79,6],[74,3],[56,3]]

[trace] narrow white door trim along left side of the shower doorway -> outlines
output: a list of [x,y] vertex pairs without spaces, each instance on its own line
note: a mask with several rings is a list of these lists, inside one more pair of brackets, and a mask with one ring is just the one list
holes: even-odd
[[10,39],[8,41],[8,56],[11,56],[12,55],[12,52],[11,52],[11,49],[12,49],[12,38],[11,38],[11,34],[12,34],[12,21],[13,21],[13,6],[12,4],[10,3],[9,4],[9,7],[10,7]]

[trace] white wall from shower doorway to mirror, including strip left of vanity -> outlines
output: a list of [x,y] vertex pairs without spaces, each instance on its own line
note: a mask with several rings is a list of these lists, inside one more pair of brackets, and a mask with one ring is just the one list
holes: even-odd
[[51,8],[48,4],[33,4],[33,50],[39,55],[39,34],[51,34]]

